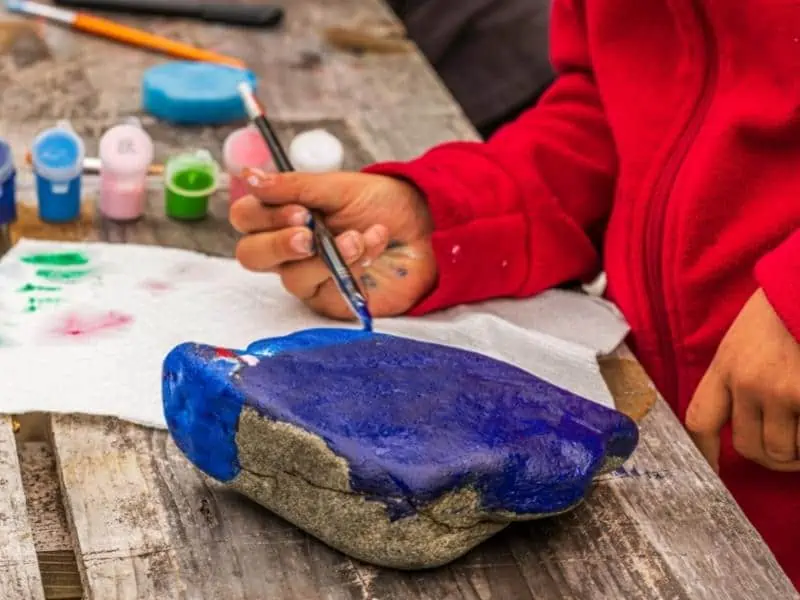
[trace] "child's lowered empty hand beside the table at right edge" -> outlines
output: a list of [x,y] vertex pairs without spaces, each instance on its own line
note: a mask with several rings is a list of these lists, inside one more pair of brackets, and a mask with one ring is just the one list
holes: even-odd
[[739,454],[776,471],[800,471],[800,344],[762,290],[739,313],[686,414],[695,444],[719,469],[730,420]]

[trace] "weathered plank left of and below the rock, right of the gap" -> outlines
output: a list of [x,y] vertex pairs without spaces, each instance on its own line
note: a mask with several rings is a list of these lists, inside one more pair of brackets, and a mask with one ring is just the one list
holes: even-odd
[[347,558],[208,481],[165,432],[52,423],[88,598],[363,597]]

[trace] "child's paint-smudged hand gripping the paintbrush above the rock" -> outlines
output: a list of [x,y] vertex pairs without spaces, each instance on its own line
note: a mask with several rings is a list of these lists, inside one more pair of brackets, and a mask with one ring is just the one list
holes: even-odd
[[287,291],[311,309],[353,318],[322,259],[311,253],[307,208],[326,216],[373,316],[402,314],[433,287],[433,226],[413,186],[364,173],[248,171],[245,177],[253,196],[236,201],[230,215],[245,234],[236,258],[249,270],[278,273]]

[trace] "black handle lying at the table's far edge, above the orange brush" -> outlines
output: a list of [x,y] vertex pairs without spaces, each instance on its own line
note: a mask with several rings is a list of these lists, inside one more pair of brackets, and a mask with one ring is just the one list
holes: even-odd
[[78,10],[120,12],[160,17],[187,17],[228,25],[274,27],[283,20],[279,6],[226,2],[170,2],[169,0],[54,0]]

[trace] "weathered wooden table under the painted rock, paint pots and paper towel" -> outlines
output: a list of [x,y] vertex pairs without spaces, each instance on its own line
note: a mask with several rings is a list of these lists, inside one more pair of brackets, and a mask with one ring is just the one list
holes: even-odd
[[[262,77],[261,98],[284,139],[323,125],[345,141],[350,168],[475,138],[416,52],[355,56],[321,41],[324,26],[390,18],[379,0],[287,7],[279,33],[157,19],[146,26],[244,58]],[[44,41],[25,31],[0,37],[0,135],[14,144],[18,164],[36,132],[57,119],[70,119],[96,151],[105,129],[140,115],[142,70],[162,60],[56,27],[42,34]],[[232,129],[174,128],[140,116],[162,160],[188,147],[219,158]],[[30,199],[29,178],[21,179],[21,196]],[[223,195],[207,221],[179,225],[163,217],[158,188],[154,182],[144,221],[89,217],[87,237],[231,255]],[[624,378],[616,382],[624,395]],[[604,476],[583,506],[513,526],[455,564],[420,573],[330,550],[206,480],[164,432],[99,418],[20,422],[15,436],[11,418],[0,418],[0,598],[7,600],[76,598],[81,588],[100,600],[799,597],[660,400],[633,459]]]

